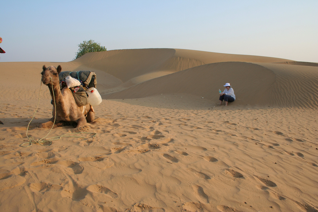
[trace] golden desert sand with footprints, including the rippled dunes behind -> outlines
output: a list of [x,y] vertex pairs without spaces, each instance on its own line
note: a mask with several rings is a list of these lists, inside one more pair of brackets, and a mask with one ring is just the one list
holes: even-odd
[[[38,128],[52,117],[43,65],[97,74],[93,122]],[[0,73],[1,211],[318,209],[318,63],[129,49]],[[236,100],[217,106],[225,83]]]

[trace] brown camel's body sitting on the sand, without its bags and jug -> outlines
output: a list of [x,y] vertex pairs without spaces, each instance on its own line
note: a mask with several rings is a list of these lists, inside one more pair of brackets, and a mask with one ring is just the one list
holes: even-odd
[[[49,121],[42,123],[40,127],[51,128],[54,122],[55,112],[56,119],[53,128],[74,124],[74,122],[77,123],[76,128],[84,127],[86,120],[87,122],[91,122],[95,119],[93,107],[89,104],[81,107],[77,106],[71,90],[67,87],[64,87],[62,90],[60,89],[59,73],[61,70],[62,67],[60,65],[57,68],[54,66],[46,68],[45,65],[43,65],[43,72],[41,73],[42,82],[49,87],[51,93],[53,100],[53,117]],[[54,107],[54,99],[56,108]]]

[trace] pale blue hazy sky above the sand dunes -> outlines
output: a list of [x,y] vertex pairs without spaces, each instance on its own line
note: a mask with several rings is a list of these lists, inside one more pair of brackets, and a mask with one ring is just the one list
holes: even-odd
[[3,0],[0,62],[68,62],[79,44],[318,63],[318,0]]

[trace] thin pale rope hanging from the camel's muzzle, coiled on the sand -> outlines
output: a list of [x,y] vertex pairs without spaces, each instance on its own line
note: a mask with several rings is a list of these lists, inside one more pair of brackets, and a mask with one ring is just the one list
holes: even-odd
[[[45,139],[52,131],[53,127],[54,127],[54,124],[55,124],[55,120],[56,120],[56,104],[55,104],[55,96],[54,96],[54,90],[53,90],[53,82],[52,82],[52,77],[50,77],[50,80],[51,80],[51,85],[52,85],[52,93],[53,93],[53,99],[54,99],[54,108],[55,108],[55,114],[54,114],[54,122],[53,122],[53,125],[49,131],[49,133],[47,133],[47,135],[43,138],[41,138],[40,140],[35,140],[33,137],[29,137],[28,136],[28,130],[29,130],[29,126],[31,124],[31,121],[34,119],[34,116],[35,116],[35,113],[37,112],[38,110],[38,106],[39,106],[39,103],[40,103],[40,97],[41,97],[41,89],[42,89],[42,80],[41,80],[41,86],[40,86],[40,92],[39,92],[39,100],[38,100],[38,105],[37,105],[37,108],[35,109],[34,113],[33,113],[33,117],[32,119],[30,120],[29,124],[28,124],[28,127],[26,129],[26,137],[29,139],[29,142],[25,142],[23,144],[21,144],[20,146],[21,147],[30,147],[32,146],[32,143],[38,143],[42,146],[50,146],[52,144],[52,140],[59,140],[61,139],[62,137],[73,137],[73,138],[85,138],[85,137],[80,137],[80,136],[66,136],[66,135],[69,135],[69,134],[81,134],[81,133],[66,133],[66,134],[63,134],[63,135],[59,135],[59,136],[56,136],[56,137],[52,137],[52,138],[47,138]],[[82,132],[82,133],[86,133],[86,132]],[[86,133],[88,134],[88,133]],[[95,137],[95,135],[97,133],[89,133],[89,134],[94,134],[92,138]],[[48,142],[48,144],[43,144],[45,142]],[[28,146],[24,146],[24,144],[29,144]]]

